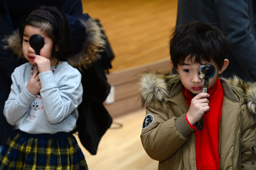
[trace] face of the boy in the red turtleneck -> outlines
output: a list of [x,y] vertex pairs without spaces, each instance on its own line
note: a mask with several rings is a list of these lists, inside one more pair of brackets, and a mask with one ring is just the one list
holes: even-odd
[[[222,73],[224,70],[219,69],[216,62],[203,62],[203,65],[205,64],[212,64],[216,69],[215,75],[212,78],[209,78],[208,88],[211,88],[216,82],[218,74]],[[198,75],[200,66],[202,65],[199,63],[192,64],[186,59],[183,63],[178,64],[176,69],[180,75],[182,85],[195,95],[202,93],[203,91],[204,79],[200,78]]]

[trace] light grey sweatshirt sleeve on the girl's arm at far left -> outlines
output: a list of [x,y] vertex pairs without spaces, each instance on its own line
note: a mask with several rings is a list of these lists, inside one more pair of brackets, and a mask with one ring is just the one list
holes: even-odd
[[32,101],[36,98],[27,91],[26,86],[20,89],[23,87],[19,84],[20,78],[19,71],[16,69],[11,75],[11,93],[5,102],[4,115],[11,125],[16,125],[17,121],[29,111]]

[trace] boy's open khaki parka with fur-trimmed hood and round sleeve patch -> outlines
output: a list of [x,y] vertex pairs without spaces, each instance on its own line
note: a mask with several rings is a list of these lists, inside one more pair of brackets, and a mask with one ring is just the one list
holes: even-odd
[[[224,90],[219,128],[220,169],[256,170],[256,86],[238,77],[220,78],[220,82]],[[188,105],[179,76],[147,73],[140,86],[141,100],[146,106],[141,132],[145,151],[159,161],[159,170],[196,170],[195,135],[185,118]]]

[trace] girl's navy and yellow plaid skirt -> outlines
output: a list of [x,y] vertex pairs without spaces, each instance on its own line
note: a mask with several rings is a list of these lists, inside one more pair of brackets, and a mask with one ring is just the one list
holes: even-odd
[[[53,137],[54,135],[54,137]],[[73,135],[15,130],[0,155],[0,170],[88,170]]]

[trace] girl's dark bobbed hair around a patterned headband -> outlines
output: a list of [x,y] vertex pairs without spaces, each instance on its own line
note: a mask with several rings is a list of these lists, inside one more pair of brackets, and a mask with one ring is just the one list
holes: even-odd
[[[52,22],[48,21],[43,17],[36,16],[36,15],[29,15],[35,9],[46,10],[50,12],[52,15],[54,15],[57,20],[57,26],[55,26]],[[66,53],[71,48],[71,42],[72,42],[69,23],[64,13],[62,13],[57,7],[47,7],[47,6],[40,6],[30,10],[26,15],[24,15],[19,25],[21,46],[22,46],[24,28],[27,25],[34,26],[44,31],[46,36],[50,37],[53,40],[52,57],[64,59]],[[56,45],[58,46],[58,51],[55,51]]]

